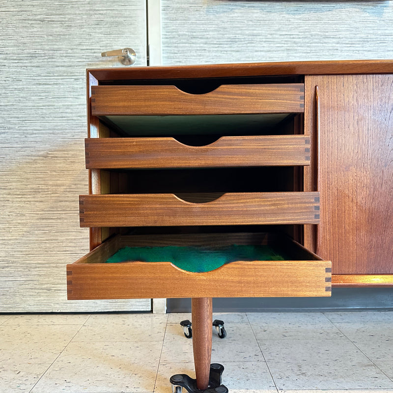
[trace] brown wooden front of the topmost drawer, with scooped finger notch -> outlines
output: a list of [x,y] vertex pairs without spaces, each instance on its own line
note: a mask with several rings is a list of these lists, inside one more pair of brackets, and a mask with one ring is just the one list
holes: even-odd
[[304,84],[221,85],[206,94],[168,85],[91,87],[95,116],[302,112]]

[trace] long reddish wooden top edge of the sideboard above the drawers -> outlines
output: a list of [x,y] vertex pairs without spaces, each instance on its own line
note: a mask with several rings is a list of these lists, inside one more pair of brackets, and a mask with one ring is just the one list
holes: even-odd
[[392,74],[393,60],[329,60],[269,63],[90,68],[98,82],[127,79],[225,78],[274,75]]

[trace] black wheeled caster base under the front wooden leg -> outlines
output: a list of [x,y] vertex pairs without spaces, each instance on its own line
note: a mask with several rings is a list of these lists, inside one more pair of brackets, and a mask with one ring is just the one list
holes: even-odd
[[197,380],[186,374],[175,374],[169,378],[172,384],[172,392],[177,393],[176,387],[180,386],[189,393],[228,393],[228,388],[221,383],[224,366],[218,363],[210,365],[209,386],[205,390],[197,388]]

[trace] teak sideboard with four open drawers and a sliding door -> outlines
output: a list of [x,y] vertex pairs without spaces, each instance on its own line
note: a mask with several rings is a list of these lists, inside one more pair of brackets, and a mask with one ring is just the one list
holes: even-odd
[[[393,285],[392,61],[94,69],[87,98],[91,252],[67,265],[69,299],[191,297],[206,343],[212,297]],[[125,246],[231,244],[286,257],[104,263]],[[204,386],[209,345],[195,360]]]

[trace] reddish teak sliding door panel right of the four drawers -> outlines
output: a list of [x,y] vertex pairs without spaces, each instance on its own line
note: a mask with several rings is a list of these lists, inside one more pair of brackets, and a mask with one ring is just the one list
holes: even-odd
[[393,273],[393,75],[305,82],[306,135],[315,128],[315,85],[320,97],[319,255],[333,274]]

